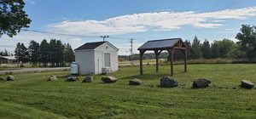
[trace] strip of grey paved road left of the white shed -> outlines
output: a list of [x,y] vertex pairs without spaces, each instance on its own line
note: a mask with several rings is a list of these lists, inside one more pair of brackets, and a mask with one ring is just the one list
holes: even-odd
[[22,68],[20,70],[9,70],[9,71],[0,71],[0,75],[5,73],[25,73],[25,72],[39,72],[39,71],[63,71],[69,70],[70,67],[54,67],[54,68]]

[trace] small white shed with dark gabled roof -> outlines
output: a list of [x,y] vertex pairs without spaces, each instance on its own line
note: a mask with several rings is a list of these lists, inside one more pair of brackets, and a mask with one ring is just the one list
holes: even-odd
[[110,42],[87,42],[74,51],[75,61],[79,65],[79,73],[82,75],[119,70],[119,48]]

